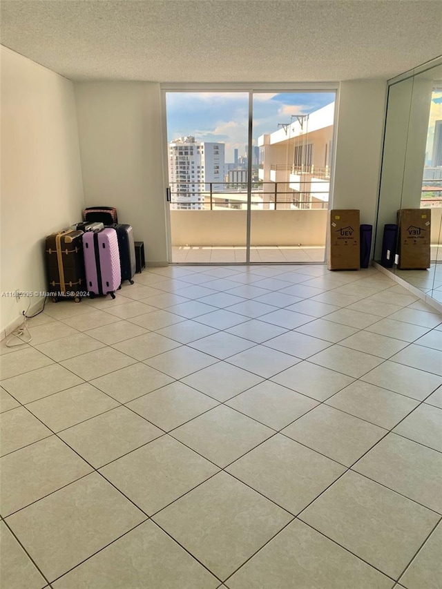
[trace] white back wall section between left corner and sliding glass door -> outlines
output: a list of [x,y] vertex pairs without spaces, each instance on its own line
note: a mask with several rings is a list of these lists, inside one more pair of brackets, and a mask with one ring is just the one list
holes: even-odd
[[115,206],[144,241],[146,262],[166,264],[160,84],[75,84],[86,206]]

